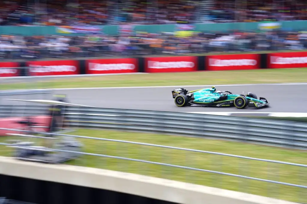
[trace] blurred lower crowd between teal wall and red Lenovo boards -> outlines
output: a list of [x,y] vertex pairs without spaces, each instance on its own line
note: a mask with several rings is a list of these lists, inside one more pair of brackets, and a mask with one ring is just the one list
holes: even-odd
[[178,55],[307,49],[307,32],[171,33],[130,36],[0,36],[0,58],[41,59],[135,55]]

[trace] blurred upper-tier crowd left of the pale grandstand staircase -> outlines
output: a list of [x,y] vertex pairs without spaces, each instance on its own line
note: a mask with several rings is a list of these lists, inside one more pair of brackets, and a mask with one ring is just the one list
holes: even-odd
[[[19,0],[14,0],[19,1]],[[4,5],[7,24],[78,25],[194,23],[196,0],[28,0]],[[10,3],[12,4],[12,2]]]

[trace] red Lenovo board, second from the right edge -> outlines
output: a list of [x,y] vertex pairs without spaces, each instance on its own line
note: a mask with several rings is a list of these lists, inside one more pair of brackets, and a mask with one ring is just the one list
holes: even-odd
[[260,55],[258,54],[225,54],[206,57],[206,70],[240,70],[259,69]]

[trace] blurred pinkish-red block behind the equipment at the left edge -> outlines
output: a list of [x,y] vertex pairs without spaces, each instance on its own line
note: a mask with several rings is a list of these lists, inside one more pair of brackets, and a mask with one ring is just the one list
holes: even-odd
[[[34,116],[31,117],[33,122],[39,123],[38,126],[50,126],[51,116]],[[24,129],[25,124],[18,124],[18,121],[24,121],[25,117],[10,117],[10,118],[0,118],[0,128],[8,128],[8,129]],[[47,132],[49,128],[35,128],[40,132]],[[27,134],[26,132],[20,131],[12,131],[12,130],[1,130],[0,136],[7,136],[7,133],[14,134]]]

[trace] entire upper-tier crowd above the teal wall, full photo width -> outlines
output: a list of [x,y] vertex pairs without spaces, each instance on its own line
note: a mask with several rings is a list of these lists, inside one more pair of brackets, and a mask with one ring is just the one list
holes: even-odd
[[[212,3],[212,5],[210,4]],[[190,24],[307,20],[304,0],[13,0],[0,3],[2,24]]]

